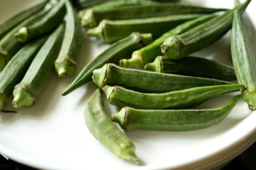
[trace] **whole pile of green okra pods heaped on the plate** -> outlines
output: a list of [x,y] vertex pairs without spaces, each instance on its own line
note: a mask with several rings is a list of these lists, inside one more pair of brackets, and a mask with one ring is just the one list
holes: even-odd
[[[256,109],[256,65],[244,13],[250,0],[234,4],[42,0],[0,24],[0,108],[12,94],[15,108],[32,106],[53,70],[72,77],[85,32],[110,45],[84,64],[62,96],[94,82],[84,111],[88,130],[119,158],[138,163],[134,144],[114,122],[123,130],[196,130],[221,122],[240,99]],[[232,67],[191,56],[230,30]],[[239,93],[217,108],[193,108],[232,92]],[[103,94],[120,108],[111,117]]]

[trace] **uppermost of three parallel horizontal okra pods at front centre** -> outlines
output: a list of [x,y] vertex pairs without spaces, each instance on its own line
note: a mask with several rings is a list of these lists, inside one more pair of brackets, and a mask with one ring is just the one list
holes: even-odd
[[200,86],[231,84],[217,79],[121,68],[112,63],[95,69],[93,71],[93,82],[100,88],[105,85],[119,85],[141,93],[165,93]]

